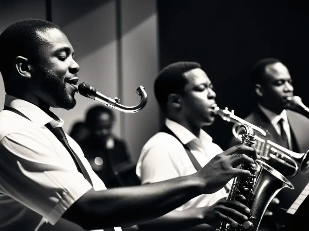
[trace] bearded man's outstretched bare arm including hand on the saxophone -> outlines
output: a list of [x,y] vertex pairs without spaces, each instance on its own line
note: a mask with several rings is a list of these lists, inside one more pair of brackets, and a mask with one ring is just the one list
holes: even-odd
[[[234,176],[251,176],[249,171],[235,167],[245,161],[253,164],[253,159],[235,152],[256,155],[254,148],[238,145],[218,154],[190,176],[136,187],[90,189],[62,217],[88,230],[128,227],[155,219],[198,195],[218,191]],[[232,222],[226,216],[222,219]]]

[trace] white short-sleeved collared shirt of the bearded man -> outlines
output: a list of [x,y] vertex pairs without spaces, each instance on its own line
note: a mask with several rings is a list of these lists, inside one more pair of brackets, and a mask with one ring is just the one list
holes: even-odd
[[[31,120],[12,111],[0,112],[0,214],[12,214],[6,219],[18,215],[23,204],[40,214],[42,221],[54,225],[91,188],[106,189],[79,145],[66,134],[88,180],[78,172],[66,148],[44,126],[50,123],[60,127],[63,120],[53,120],[39,107],[10,95],[6,95],[5,106],[17,109]],[[7,222],[1,217],[0,227]]]

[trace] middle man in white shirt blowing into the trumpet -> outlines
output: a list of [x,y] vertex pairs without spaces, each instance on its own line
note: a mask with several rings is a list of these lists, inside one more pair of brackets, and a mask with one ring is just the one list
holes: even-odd
[[[168,65],[157,76],[154,90],[167,119],[164,128],[142,148],[136,168],[142,184],[192,174],[223,152],[201,129],[214,122],[211,108],[215,105],[216,93],[200,64],[177,62]],[[163,217],[140,225],[140,228],[214,230],[220,222],[216,219],[198,220],[198,214],[203,210],[229,206],[230,202],[222,198],[227,197],[230,188],[228,183],[217,192],[195,197]]]

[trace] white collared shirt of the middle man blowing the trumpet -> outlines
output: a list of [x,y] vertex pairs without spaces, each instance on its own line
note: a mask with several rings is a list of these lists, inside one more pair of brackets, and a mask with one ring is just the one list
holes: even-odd
[[[187,144],[202,167],[208,164],[214,156],[223,152],[203,130],[201,130],[198,139],[186,128],[172,120],[167,119],[165,124],[183,144]],[[136,166],[136,174],[141,179],[142,184],[155,183],[195,173],[196,169],[183,144],[165,132],[159,132],[151,137],[142,148]],[[231,186],[227,184],[226,187],[230,188]],[[222,188],[216,193],[195,197],[176,210],[210,206],[227,196],[226,189]]]

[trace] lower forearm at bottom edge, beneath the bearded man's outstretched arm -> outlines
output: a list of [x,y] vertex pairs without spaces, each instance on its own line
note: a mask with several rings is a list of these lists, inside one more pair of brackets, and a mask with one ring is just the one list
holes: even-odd
[[203,218],[203,211],[201,208],[185,209],[182,211],[173,210],[162,217],[140,224],[138,227],[141,231],[159,229],[180,231],[202,224],[204,222]]

